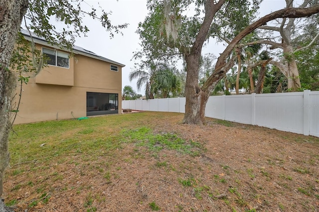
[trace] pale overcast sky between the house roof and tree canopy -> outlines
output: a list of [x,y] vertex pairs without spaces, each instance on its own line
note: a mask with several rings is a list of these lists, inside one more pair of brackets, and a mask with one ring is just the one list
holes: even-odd
[[[85,0],[84,2],[88,8],[89,5],[98,8],[99,2],[105,11],[112,11],[110,15],[112,24],[128,23],[129,25],[122,30],[123,36],[115,34],[114,38],[110,39],[109,33],[105,31],[98,20],[85,19],[83,23],[89,27],[90,32],[87,37],[77,38],[75,45],[125,64],[126,66],[122,69],[122,90],[124,86],[129,85],[137,93],[144,95],[144,90],[137,91],[136,80],[130,82],[128,76],[134,68],[135,61],[131,61],[133,52],[140,49],[139,35],[135,32],[139,22],[143,22],[148,13],[147,0]],[[285,0],[264,0],[260,6],[260,16],[282,9],[284,5]],[[216,46],[210,41],[204,51],[218,55],[223,49],[223,45]]]

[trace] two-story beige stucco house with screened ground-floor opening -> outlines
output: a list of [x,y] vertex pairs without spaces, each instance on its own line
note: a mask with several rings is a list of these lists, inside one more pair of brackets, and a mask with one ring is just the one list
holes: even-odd
[[[22,34],[30,40],[27,31]],[[33,41],[49,58],[48,66],[23,85],[15,124],[121,113],[125,65],[78,46],[69,57],[69,52],[44,39],[33,37]],[[18,86],[17,94],[19,90]]]

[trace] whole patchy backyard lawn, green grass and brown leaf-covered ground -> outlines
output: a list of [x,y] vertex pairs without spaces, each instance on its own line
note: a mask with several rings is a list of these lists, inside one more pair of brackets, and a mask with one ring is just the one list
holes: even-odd
[[16,211],[318,211],[319,138],[140,112],[14,126]]

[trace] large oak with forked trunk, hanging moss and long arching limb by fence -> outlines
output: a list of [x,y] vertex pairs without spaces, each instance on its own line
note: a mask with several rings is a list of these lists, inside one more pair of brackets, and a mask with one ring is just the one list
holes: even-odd
[[[234,17],[239,18],[246,12],[238,11],[239,6],[236,3],[243,2],[233,0],[148,1],[150,13],[138,29],[143,41],[143,50],[136,53],[135,58],[144,58],[141,62],[143,66],[157,58],[169,59],[173,54],[183,56],[187,72],[184,123],[204,123],[205,106],[209,94],[234,65],[235,58],[231,53],[245,36],[276,18],[306,17],[319,12],[319,5],[306,8],[285,8],[272,12],[241,29],[219,55],[214,72],[200,87],[198,74],[202,47],[205,41],[213,36],[213,32],[216,31],[214,29],[220,26],[221,20],[218,17],[224,14],[228,25],[222,27],[232,29],[234,22],[230,20],[234,20]],[[250,1],[246,3],[249,4]],[[192,17],[187,16],[185,11],[190,5],[195,7],[195,15]]]

